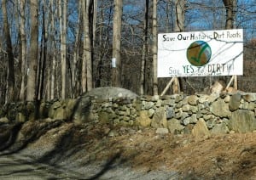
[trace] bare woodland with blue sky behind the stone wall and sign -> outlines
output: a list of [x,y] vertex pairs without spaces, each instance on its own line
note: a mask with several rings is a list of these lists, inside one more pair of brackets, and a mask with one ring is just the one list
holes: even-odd
[[[106,86],[158,94],[170,78],[156,77],[157,33],[233,28],[244,30],[238,88],[256,91],[256,0],[0,2],[0,104],[76,98]],[[217,79],[228,83],[230,76],[178,82],[183,93],[191,94]]]

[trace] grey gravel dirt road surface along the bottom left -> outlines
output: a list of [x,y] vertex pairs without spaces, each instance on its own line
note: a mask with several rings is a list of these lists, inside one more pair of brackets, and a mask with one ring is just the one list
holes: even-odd
[[[108,166],[107,166],[108,165]],[[0,179],[4,180],[46,180],[46,179],[178,179],[175,172],[143,172],[131,170],[128,166],[115,163],[92,163],[80,166],[77,172],[67,164],[52,166],[37,163],[21,155],[0,157]]]

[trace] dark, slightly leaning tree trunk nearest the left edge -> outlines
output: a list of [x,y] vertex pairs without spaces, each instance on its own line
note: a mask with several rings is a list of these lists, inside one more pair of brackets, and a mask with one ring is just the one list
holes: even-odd
[[12,48],[11,37],[9,34],[9,22],[8,22],[8,14],[6,8],[6,0],[2,1],[2,8],[3,8],[3,31],[4,37],[6,41],[7,53],[8,53],[8,84],[7,84],[7,91],[8,91],[8,102],[15,100],[15,59],[14,53]]

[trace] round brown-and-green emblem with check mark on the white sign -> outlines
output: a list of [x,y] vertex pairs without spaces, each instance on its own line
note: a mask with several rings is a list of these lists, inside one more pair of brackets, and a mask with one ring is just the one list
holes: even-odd
[[187,49],[187,59],[191,65],[207,65],[212,56],[212,49],[204,41],[196,41],[189,45]]

